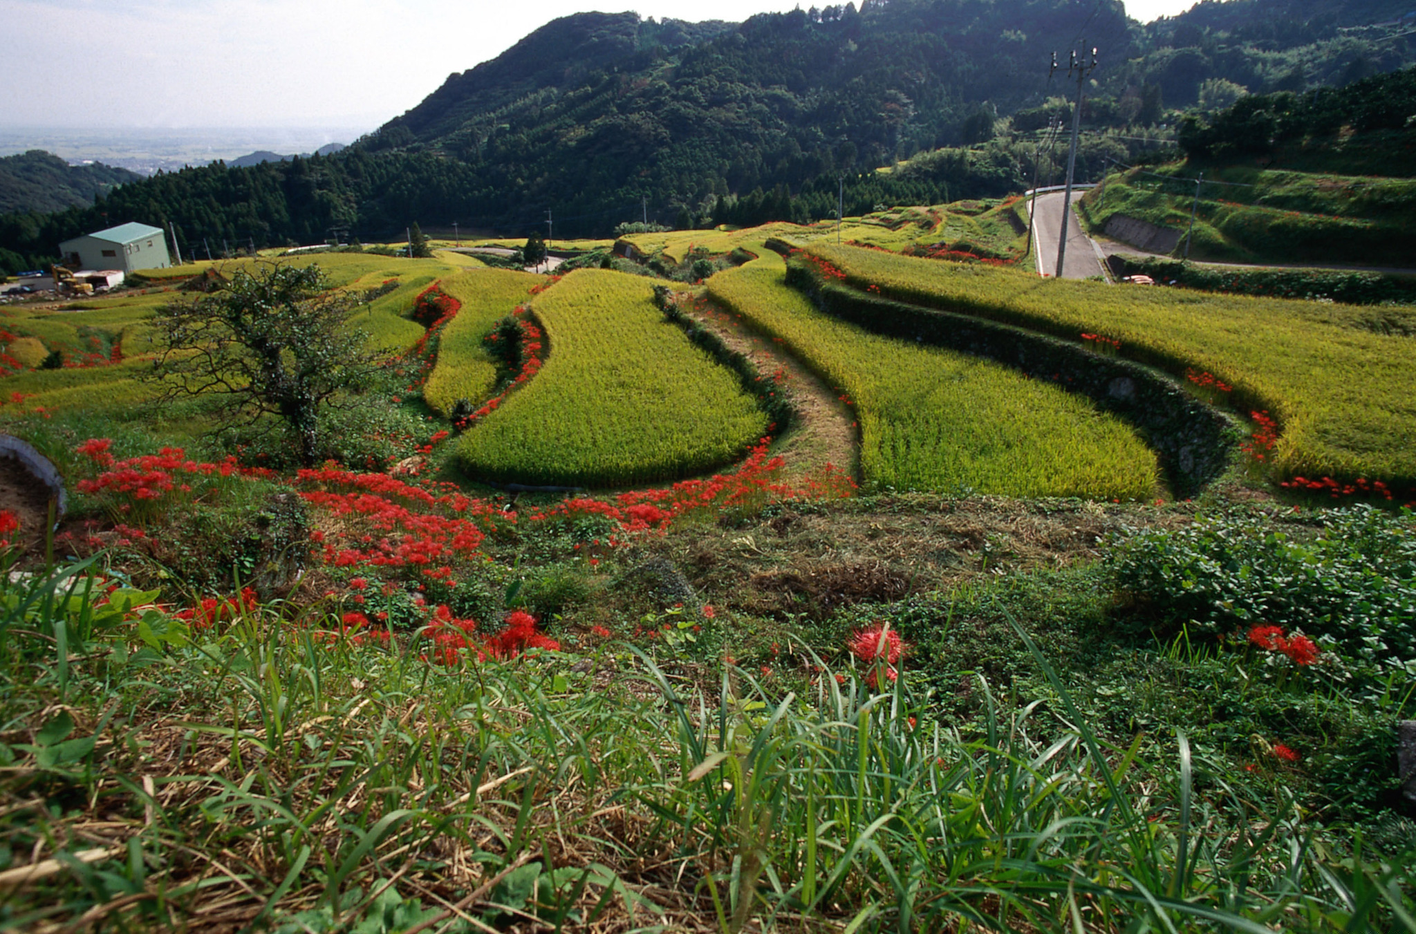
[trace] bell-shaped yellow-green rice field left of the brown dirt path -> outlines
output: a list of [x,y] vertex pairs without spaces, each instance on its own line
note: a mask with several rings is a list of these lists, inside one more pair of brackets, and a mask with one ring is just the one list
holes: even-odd
[[766,415],[736,378],[664,321],[653,282],[583,269],[538,296],[549,355],[467,432],[472,475],[610,487],[687,477],[736,460]]

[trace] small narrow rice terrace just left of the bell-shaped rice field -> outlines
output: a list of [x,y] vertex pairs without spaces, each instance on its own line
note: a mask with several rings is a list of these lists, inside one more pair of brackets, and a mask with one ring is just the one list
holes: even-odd
[[476,403],[491,395],[497,367],[481,338],[542,282],[541,276],[510,269],[480,269],[442,280],[442,290],[462,309],[438,338],[438,365],[423,386],[423,399],[435,412],[446,416],[457,399]]

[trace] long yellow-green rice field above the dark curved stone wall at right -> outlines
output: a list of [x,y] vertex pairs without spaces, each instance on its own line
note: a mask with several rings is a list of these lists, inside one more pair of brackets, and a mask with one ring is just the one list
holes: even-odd
[[[806,248],[858,289],[1093,344],[1177,376],[1209,374],[1245,416],[1277,480],[1365,478],[1416,488],[1409,340],[1313,321],[1301,303],[1116,290],[830,243]],[[1357,309],[1352,317],[1365,310]],[[1399,494],[1398,494],[1399,495]]]

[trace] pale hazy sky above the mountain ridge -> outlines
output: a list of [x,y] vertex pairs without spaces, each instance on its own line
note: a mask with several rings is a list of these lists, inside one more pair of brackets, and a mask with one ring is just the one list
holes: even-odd
[[[804,0],[804,6],[834,0]],[[1138,20],[1192,0],[1131,0]],[[0,0],[0,126],[372,130],[579,10],[739,21],[797,0]],[[857,6],[860,6],[857,3]]]

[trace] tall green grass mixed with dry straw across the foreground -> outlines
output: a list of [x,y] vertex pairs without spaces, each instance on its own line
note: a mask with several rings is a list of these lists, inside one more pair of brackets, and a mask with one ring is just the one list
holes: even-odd
[[1184,736],[1103,746],[1035,647],[1052,695],[980,681],[964,736],[908,672],[875,693],[816,658],[777,696],[633,650],[443,669],[280,604],[188,630],[93,569],[0,576],[10,927],[1416,930],[1409,866]]

